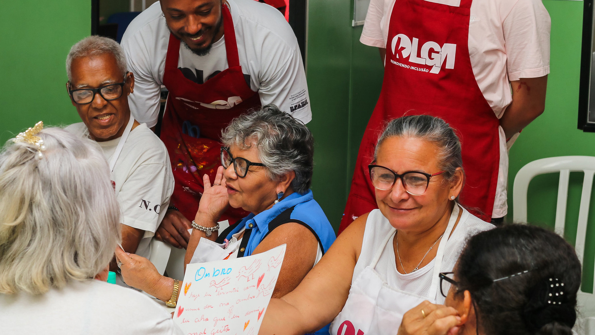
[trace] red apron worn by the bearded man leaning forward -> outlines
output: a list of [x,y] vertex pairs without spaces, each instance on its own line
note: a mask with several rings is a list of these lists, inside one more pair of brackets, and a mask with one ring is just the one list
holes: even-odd
[[[261,106],[260,98],[244,79],[237,54],[230,9],[222,5],[228,69],[203,84],[187,79],[178,69],[180,40],[170,35],[163,83],[169,91],[161,139],[170,154],[176,185],[170,203],[193,220],[203,193],[202,176],[214,180],[221,165],[221,130],[231,119]],[[229,208],[221,220],[233,224],[248,215]]]

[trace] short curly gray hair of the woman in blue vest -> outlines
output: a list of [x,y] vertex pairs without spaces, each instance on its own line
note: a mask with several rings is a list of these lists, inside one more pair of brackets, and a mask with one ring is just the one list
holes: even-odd
[[306,125],[277,106],[262,106],[231,120],[221,134],[221,140],[227,147],[256,145],[258,157],[271,180],[295,171],[296,178],[291,184],[293,191],[308,192],[314,169],[314,137]]

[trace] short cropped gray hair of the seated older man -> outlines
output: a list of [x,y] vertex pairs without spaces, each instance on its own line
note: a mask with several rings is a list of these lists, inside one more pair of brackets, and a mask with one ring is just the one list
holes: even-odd
[[68,75],[68,80],[73,79],[73,60],[80,57],[91,57],[101,54],[114,55],[118,69],[122,72],[122,76],[126,77],[128,64],[126,63],[126,55],[124,55],[124,50],[120,44],[111,38],[93,35],[83,38],[70,48],[68,57],[66,57],[66,74]]

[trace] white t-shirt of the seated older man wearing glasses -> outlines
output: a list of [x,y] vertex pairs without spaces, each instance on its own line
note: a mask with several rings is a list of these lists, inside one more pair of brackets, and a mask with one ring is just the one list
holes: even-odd
[[[65,129],[80,137],[89,137],[89,130],[82,122]],[[118,142],[120,138],[97,142],[108,162]],[[174,176],[165,145],[145,123],[130,132],[111,179],[115,182],[121,223],[145,231],[135,253],[149,258],[151,238],[167,212],[174,191]]]

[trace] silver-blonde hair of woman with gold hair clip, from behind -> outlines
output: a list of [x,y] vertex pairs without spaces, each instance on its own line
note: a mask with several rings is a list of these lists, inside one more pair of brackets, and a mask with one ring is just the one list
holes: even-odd
[[121,240],[120,207],[101,148],[60,128],[0,152],[0,293],[42,294],[95,277]]

